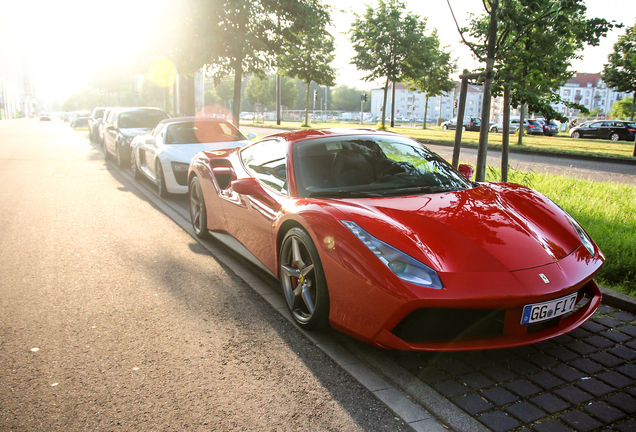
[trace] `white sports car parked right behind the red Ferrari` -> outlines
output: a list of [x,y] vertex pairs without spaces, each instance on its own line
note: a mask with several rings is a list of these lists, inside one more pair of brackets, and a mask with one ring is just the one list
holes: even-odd
[[130,144],[130,167],[136,179],[145,175],[157,185],[159,195],[188,193],[188,166],[204,150],[243,147],[246,138],[233,124],[212,117],[178,117],[159,122],[147,135]]

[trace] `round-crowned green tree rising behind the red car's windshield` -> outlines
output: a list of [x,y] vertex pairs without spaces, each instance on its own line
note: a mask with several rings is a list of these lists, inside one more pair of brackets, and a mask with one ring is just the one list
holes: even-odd
[[351,64],[368,71],[365,81],[385,79],[382,101],[382,128],[385,128],[386,102],[390,82],[417,78],[412,66],[425,63],[428,54],[424,32],[426,19],[405,13],[399,0],[379,0],[377,7],[368,6],[364,16],[357,16],[349,38],[356,55]]

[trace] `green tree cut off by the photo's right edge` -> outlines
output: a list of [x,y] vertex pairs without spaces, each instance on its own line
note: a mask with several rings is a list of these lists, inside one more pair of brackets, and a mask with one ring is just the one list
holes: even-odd
[[[602,78],[605,83],[622,92],[632,92],[631,120],[634,120],[636,105],[636,25],[627,27],[625,34],[619,36],[614,44],[614,52],[607,56]],[[636,156],[636,147],[634,147]]]

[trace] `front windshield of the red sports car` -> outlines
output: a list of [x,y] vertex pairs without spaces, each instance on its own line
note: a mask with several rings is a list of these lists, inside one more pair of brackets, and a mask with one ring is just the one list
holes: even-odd
[[463,190],[472,183],[448,162],[400,136],[348,136],[294,146],[300,197],[419,195]]

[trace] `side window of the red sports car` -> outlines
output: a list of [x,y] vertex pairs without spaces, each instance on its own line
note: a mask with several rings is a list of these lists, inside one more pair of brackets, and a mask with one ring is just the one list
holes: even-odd
[[287,194],[287,143],[267,140],[241,151],[241,160],[247,171],[259,182]]

